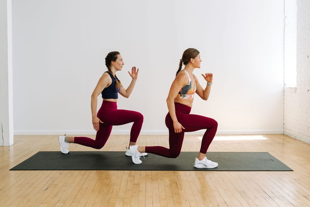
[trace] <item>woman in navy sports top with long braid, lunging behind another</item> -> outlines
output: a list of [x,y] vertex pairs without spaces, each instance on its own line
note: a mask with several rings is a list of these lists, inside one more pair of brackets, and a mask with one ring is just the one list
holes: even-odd
[[[69,152],[69,143],[76,143],[83,146],[89,146],[95,149],[101,149],[107,142],[113,125],[123,125],[133,122],[130,132],[130,146],[135,146],[139,133],[142,128],[143,115],[136,111],[117,109],[118,93],[128,98],[134,89],[138,78],[139,69],[131,68],[128,71],[132,80],[128,88],[125,89],[122,83],[116,77],[116,72],[122,70],[124,61],[119,52],[110,52],[105,58],[105,65],[108,71],[104,72],[99,79],[94,92],[91,94],[91,115],[94,129],[97,131],[96,138],[89,137],[67,137],[59,136],[60,151],[64,154]],[[102,105],[97,113],[97,97],[101,93]],[[127,148],[127,147],[126,147]],[[131,156],[129,148],[125,154]],[[147,155],[147,153],[142,153]],[[141,161],[140,161],[141,162]]]

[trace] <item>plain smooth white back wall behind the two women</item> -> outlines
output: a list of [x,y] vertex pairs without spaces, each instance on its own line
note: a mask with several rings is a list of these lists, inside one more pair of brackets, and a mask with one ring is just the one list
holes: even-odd
[[[283,0],[22,1],[13,7],[15,134],[91,134],[90,96],[121,52],[139,78],[118,108],[144,115],[142,134],[167,133],[166,97],[188,47],[214,80],[192,113],[216,119],[218,134],[283,133]],[[99,97],[98,106],[101,101]],[[113,127],[128,133],[131,124]]]

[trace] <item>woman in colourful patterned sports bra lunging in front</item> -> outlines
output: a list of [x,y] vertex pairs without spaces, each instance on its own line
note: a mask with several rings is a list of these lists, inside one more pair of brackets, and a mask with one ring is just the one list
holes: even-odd
[[[167,98],[168,114],[166,115],[166,126],[169,129],[169,149],[163,146],[139,146],[131,147],[131,155],[139,153],[152,153],[168,158],[179,156],[184,139],[184,132],[193,132],[206,129],[201,141],[201,148],[198,157],[195,159],[196,168],[215,168],[216,162],[206,158],[206,152],[217,131],[217,122],[214,119],[201,115],[189,114],[193,105],[194,94],[197,93],[203,100],[208,100],[213,74],[201,74],[206,80],[206,88],[202,88],[197,77],[193,74],[195,68],[200,68],[200,52],[194,48],[184,51],[180,59],[179,70],[176,73],[169,95]],[[185,65],[184,70],[182,65]],[[136,161],[139,156],[135,157]],[[132,158],[134,160],[134,157]],[[135,163],[135,162],[134,162]]]

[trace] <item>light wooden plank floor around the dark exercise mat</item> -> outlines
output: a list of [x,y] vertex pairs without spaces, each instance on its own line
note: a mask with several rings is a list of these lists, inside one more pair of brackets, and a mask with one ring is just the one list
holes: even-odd
[[[182,151],[198,155],[200,139],[185,135]],[[125,151],[128,142],[111,135],[101,150],[69,150]],[[282,134],[216,136],[208,151],[267,151],[294,171],[10,171],[60,148],[54,135],[14,136],[14,143],[0,147],[0,206],[310,206],[310,145]],[[142,135],[138,143],[167,146],[168,136]]]

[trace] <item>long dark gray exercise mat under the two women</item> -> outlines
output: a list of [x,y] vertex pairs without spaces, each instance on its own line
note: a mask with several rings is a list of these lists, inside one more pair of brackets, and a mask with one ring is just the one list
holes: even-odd
[[268,152],[207,152],[219,163],[213,169],[195,168],[198,152],[181,152],[177,158],[148,154],[134,164],[119,151],[41,151],[10,170],[215,170],[215,171],[293,171]]

